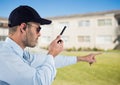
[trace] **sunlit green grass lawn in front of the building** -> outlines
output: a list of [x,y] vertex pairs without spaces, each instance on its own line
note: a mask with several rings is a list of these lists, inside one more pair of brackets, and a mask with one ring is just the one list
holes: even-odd
[[[91,52],[63,52],[63,55],[86,55]],[[120,51],[103,52],[97,62],[60,68],[52,85],[120,85]]]

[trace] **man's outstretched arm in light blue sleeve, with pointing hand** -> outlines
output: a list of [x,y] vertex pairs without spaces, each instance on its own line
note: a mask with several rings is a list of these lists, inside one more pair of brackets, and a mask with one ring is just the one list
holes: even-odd
[[101,53],[91,53],[85,56],[60,56],[58,55],[55,57],[55,66],[56,68],[62,68],[65,66],[76,64],[78,62],[88,62],[91,65],[92,63],[96,61],[95,56],[99,54]]

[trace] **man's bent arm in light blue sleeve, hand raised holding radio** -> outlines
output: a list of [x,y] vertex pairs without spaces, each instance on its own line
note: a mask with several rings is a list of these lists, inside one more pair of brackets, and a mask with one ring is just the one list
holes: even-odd
[[40,55],[30,57],[30,65],[36,69],[35,80],[38,80],[35,85],[38,85],[38,82],[41,82],[42,85],[50,85],[54,80],[56,74],[54,57],[63,50],[63,42],[57,43],[59,40],[60,36],[52,41],[49,52],[43,56],[44,58],[41,58]]

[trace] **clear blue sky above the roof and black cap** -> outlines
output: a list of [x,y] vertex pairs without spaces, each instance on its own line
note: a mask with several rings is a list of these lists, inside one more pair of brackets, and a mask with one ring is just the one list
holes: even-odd
[[120,0],[0,0],[0,17],[8,18],[20,5],[33,7],[41,17],[120,10]]

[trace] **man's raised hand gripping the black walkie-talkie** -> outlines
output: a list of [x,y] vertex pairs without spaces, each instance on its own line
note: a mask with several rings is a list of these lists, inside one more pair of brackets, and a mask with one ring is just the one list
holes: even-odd
[[[58,42],[60,40],[60,42]],[[48,54],[53,57],[57,56],[63,50],[63,41],[61,40],[61,36],[57,36],[55,40],[53,40],[49,46]]]

